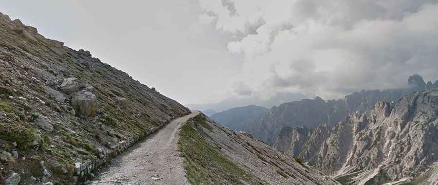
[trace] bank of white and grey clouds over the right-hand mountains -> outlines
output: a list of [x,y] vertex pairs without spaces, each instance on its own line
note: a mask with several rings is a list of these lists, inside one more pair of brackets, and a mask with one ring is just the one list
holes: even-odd
[[234,35],[228,50],[244,57],[235,80],[252,92],[337,98],[401,87],[411,74],[438,78],[435,0],[199,2]]

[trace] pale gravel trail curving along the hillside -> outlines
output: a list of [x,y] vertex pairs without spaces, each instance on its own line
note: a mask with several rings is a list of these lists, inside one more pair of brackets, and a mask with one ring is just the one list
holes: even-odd
[[186,185],[183,158],[177,151],[181,125],[198,111],[179,117],[135,144],[102,170],[92,185]]

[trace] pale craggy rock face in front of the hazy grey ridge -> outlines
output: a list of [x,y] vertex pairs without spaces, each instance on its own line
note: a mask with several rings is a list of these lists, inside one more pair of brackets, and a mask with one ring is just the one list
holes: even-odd
[[438,183],[438,89],[380,101],[332,129],[322,125],[300,157],[343,184]]

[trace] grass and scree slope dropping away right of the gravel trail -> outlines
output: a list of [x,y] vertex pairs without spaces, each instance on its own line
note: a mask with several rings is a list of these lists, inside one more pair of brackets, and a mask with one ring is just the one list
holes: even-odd
[[216,124],[203,114],[180,132],[187,180],[192,185],[338,185],[298,158]]

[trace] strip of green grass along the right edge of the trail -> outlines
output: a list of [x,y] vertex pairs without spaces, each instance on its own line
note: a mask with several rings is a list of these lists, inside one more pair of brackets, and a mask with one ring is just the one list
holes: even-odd
[[[262,184],[220,153],[218,146],[204,139],[199,126],[212,130],[205,117],[198,115],[183,125],[178,147],[185,157],[187,180],[193,185]],[[196,128],[196,129],[195,129]],[[200,130],[200,131],[198,131]]]

